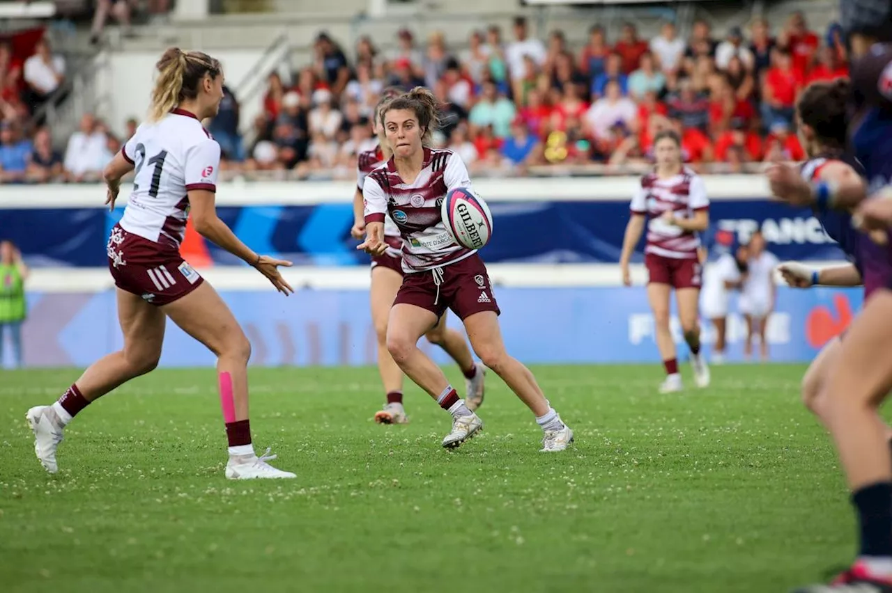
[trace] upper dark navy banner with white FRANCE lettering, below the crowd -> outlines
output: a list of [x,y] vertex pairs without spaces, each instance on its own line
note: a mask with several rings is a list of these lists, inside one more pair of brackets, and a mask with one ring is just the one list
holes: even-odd
[[[499,201],[490,208],[493,234],[482,253],[490,263],[616,263],[629,219],[628,204],[621,201]],[[105,240],[121,213],[98,208],[0,210],[0,237],[15,241],[32,266],[104,266]],[[295,265],[368,262],[350,236],[349,204],[219,207],[218,213],[252,249]],[[712,232],[735,232],[742,241],[761,228],[768,248],[781,260],[843,258],[807,209],[764,199],[719,199],[712,203],[710,217]],[[240,263],[213,245],[206,249],[214,264]]]

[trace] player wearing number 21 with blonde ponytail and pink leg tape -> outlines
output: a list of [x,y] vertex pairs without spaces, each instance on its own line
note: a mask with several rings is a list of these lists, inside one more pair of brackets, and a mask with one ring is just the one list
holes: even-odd
[[251,343],[211,284],[179,255],[186,218],[191,214],[196,231],[251,264],[285,295],[293,290],[277,267],[291,263],[254,253],[217,217],[220,147],[202,127],[202,119],[216,115],[223,98],[219,61],[171,48],[156,68],[148,121],[104,172],[106,204],[114,208],[121,178],[136,168],[128,205],[107,247],[124,348],[95,361],[58,402],[28,410],[37,459],[51,474],[58,471],[56,448],[72,418],[157,366],[169,317],[217,355],[229,442],[227,478],[293,478],[268,465],[275,456],[258,457],[254,452],[248,421]]

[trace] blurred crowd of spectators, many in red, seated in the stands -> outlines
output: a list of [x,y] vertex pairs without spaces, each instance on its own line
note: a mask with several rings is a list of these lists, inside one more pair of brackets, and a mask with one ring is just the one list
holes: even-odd
[[[363,37],[348,57],[320,33],[310,65],[290,77],[270,75],[250,134],[240,134],[237,98],[224,89],[209,129],[225,168],[351,178],[357,153],[376,143],[370,118],[381,91],[425,85],[443,105],[435,142],[478,175],[557,164],[644,166],[652,138],[667,128],[681,134],[693,167],[714,170],[719,163],[734,172],[772,158],[804,158],[793,118],[797,93],[813,81],[847,76],[840,28],[819,37],[801,12],[777,30],[755,20],[723,39],[702,20],[687,39],[671,22],[649,40],[632,24],[612,31],[594,25],[577,48],[560,31],[544,42],[530,37],[518,17],[510,40],[492,26],[463,46],[451,50],[439,33],[421,44],[402,29],[391,52]],[[0,181],[95,180],[119,150],[121,139],[91,115],[63,155],[52,150],[45,128],[22,136],[17,122],[63,77],[64,61],[48,45],[21,64],[0,44]],[[127,134],[135,126],[128,122]]]

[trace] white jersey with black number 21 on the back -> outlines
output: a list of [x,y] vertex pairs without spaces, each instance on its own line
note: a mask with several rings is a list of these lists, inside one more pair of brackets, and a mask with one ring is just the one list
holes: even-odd
[[121,152],[136,165],[136,176],[120,226],[179,248],[186,234],[187,192],[217,191],[219,144],[193,114],[173,110],[137,127]]

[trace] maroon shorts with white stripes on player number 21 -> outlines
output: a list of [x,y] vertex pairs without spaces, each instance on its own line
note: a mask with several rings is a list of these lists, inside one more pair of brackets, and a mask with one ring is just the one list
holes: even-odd
[[111,229],[106,250],[115,286],[152,305],[173,303],[204,281],[177,248],[127,232],[118,224]]

